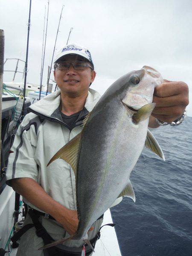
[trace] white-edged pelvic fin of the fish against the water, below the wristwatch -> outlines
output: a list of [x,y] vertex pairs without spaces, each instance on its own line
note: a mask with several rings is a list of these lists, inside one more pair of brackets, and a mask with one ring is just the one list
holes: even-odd
[[165,157],[164,157],[162,149],[160,148],[159,143],[157,142],[157,140],[155,139],[155,137],[153,136],[153,134],[151,134],[151,131],[149,131],[149,130],[147,131],[145,147],[149,148],[151,151],[153,151],[155,154],[157,154],[159,157],[161,157],[165,161]]

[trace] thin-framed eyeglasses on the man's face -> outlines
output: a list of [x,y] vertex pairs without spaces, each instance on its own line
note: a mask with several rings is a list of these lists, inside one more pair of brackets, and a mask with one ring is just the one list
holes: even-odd
[[73,66],[74,70],[84,70],[86,67],[90,67],[90,69],[93,70],[93,68],[87,62],[84,61],[61,61],[55,63],[55,67],[57,67],[60,70],[67,70],[70,68],[70,65]]

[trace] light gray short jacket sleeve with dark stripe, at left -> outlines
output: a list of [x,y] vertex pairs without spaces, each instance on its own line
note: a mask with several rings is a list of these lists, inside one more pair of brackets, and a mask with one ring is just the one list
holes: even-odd
[[37,119],[30,119],[28,114],[23,119],[15,135],[15,140],[9,154],[6,171],[6,183],[11,186],[10,180],[20,177],[30,177],[38,180],[38,166],[35,161],[37,144]]

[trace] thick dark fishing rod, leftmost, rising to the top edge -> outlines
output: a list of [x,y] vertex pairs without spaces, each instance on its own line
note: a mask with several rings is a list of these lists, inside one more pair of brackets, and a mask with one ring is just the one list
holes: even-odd
[[28,33],[27,33],[27,48],[26,48],[26,61],[25,61],[25,69],[24,69],[24,88],[23,88],[23,108],[22,108],[22,115],[26,114],[25,108],[25,94],[26,94],[26,76],[27,76],[27,63],[28,63],[28,51],[29,51],[29,31],[30,31],[30,26],[31,26],[31,1],[29,4],[29,20],[27,23],[28,26]]

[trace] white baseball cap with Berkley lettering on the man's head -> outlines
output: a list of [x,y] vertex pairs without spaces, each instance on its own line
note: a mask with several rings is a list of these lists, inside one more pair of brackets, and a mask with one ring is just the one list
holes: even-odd
[[[67,44],[64,47],[62,47],[56,53],[54,63],[57,62],[58,59],[60,59],[61,57],[63,57],[64,55],[67,55],[67,54],[80,55],[80,56],[86,58],[93,65],[93,61],[92,61],[91,54],[90,54],[89,50],[86,47],[78,45],[78,44]],[[93,69],[94,69],[94,65],[93,65]]]

